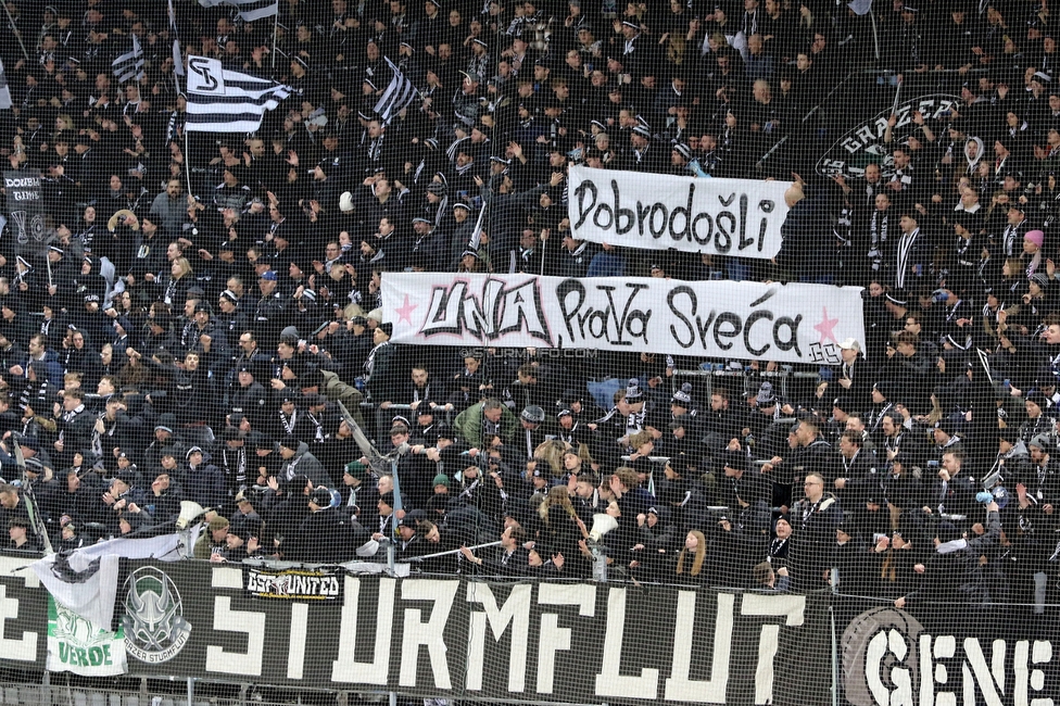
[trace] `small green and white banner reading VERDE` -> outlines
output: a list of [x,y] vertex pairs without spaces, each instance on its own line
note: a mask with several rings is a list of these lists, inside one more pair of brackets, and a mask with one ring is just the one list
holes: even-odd
[[125,635],[101,630],[48,596],[48,670],[83,677],[112,677],[128,671]]

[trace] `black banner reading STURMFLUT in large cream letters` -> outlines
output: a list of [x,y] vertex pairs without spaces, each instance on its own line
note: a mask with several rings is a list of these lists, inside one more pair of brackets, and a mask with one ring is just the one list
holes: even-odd
[[[238,566],[134,562],[127,577],[117,604],[132,676],[488,701],[830,703],[819,598],[345,575],[341,602],[263,601]],[[35,634],[23,639],[43,665],[45,589],[0,581],[3,636]],[[12,658],[0,645],[0,667]]]

